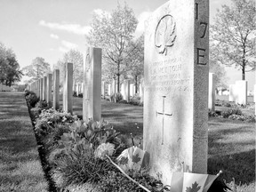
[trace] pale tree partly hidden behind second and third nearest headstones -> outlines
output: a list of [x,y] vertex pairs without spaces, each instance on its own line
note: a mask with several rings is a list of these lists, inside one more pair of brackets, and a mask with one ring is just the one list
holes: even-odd
[[60,82],[63,82],[65,63],[68,62],[73,63],[73,82],[75,84],[83,82],[83,53],[73,49],[65,52],[63,57],[54,65],[54,68],[60,69]]

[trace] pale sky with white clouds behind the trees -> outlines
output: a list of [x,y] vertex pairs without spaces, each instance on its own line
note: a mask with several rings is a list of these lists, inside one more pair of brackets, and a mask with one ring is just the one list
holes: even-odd
[[[55,64],[69,49],[85,50],[84,34],[90,30],[93,12],[111,12],[124,0],[0,0],[0,42],[16,53],[20,67],[43,57]],[[144,20],[167,0],[126,0],[139,20],[135,36],[143,31]],[[210,0],[210,23],[221,4]],[[241,72],[226,68],[228,84],[241,79]],[[247,73],[248,90],[255,84],[255,72]]]

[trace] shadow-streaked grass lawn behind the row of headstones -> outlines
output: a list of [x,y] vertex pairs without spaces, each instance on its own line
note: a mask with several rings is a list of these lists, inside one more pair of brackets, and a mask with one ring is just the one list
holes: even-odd
[[[102,117],[118,132],[142,137],[143,107],[102,100]],[[74,112],[82,115],[82,98],[74,97]],[[236,181],[237,192],[255,191],[255,124],[209,118],[208,173]]]

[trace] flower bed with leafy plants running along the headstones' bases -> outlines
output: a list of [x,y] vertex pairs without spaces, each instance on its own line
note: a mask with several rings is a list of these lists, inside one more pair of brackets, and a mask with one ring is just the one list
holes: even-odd
[[[174,191],[172,188],[177,187],[163,186],[160,180],[149,176],[147,152],[134,146],[125,149],[119,133],[108,122],[84,122],[77,116],[49,108],[44,101],[34,105],[35,98],[35,93],[26,92],[29,114],[41,146],[39,152],[51,191],[164,192]],[[31,107],[31,103],[35,108]],[[198,174],[177,174],[180,175],[181,191],[186,177],[197,175],[199,180],[187,185],[190,192],[212,184],[208,183],[207,187],[206,179],[211,177],[207,174],[200,176],[201,179]],[[211,181],[215,178],[212,176]],[[200,180],[204,180],[204,184]],[[210,188],[210,191],[215,190]]]

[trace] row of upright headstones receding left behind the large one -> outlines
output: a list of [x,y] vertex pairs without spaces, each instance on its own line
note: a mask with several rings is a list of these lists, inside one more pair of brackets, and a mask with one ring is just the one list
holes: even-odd
[[[83,80],[83,119],[101,118],[101,49],[89,47],[86,51]],[[63,111],[73,113],[73,64],[66,63],[63,81]],[[29,90],[35,92],[40,100],[49,106],[60,108],[60,70],[54,69],[44,78],[29,84]],[[53,90],[53,97],[52,97]],[[53,99],[52,99],[53,98]]]

